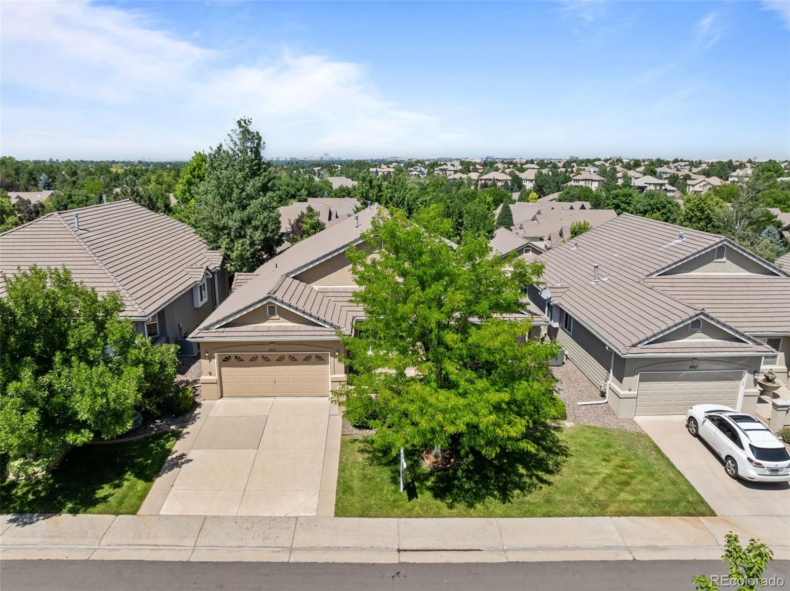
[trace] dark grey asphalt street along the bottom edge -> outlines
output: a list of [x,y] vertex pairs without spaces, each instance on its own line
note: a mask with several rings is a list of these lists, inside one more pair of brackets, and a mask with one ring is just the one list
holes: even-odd
[[[57,589],[449,589],[509,591],[682,591],[697,574],[725,575],[717,560],[600,561],[501,564],[188,563],[103,560],[9,560],[0,563],[2,591]],[[790,561],[775,561],[766,577],[790,589]],[[723,589],[734,587],[723,587]]]

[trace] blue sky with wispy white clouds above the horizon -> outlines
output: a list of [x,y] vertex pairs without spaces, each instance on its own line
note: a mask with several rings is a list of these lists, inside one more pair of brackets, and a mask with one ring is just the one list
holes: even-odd
[[790,157],[790,2],[3,2],[2,154]]

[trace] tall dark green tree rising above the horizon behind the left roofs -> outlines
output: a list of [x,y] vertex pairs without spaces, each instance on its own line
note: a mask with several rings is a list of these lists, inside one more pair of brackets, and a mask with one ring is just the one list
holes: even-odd
[[228,144],[206,155],[205,179],[195,193],[194,224],[213,249],[230,259],[229,271],[254,271],[280,244],[280,211],[270,194],[275,181],[263,159],[261,134],[249,118],[236,122]]

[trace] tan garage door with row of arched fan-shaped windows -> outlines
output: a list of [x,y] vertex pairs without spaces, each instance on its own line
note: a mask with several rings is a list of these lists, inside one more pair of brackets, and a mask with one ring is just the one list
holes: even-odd
[[328,396],[326,353],[220,353],[222,395]]

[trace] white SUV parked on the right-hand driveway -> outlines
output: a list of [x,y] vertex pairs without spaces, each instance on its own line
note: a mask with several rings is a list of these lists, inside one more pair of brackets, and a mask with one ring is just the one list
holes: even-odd
[[686,428],[724,460],[728,477],[747,481],[790,481],[790,454],[769,428],[728,406],[698,404],[686,413]]

